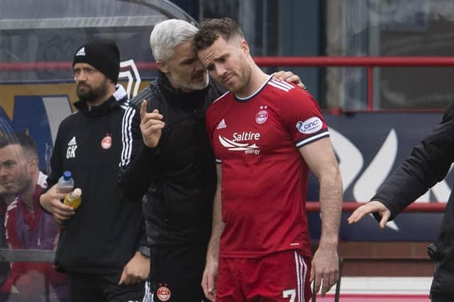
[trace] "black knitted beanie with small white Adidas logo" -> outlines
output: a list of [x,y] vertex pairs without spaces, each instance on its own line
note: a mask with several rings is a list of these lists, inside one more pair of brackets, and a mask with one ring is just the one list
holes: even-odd
[[74,54],[73,68],[76,63],[90,64],[116,83],[120,72],[120,50],[112,40],[89,42]]

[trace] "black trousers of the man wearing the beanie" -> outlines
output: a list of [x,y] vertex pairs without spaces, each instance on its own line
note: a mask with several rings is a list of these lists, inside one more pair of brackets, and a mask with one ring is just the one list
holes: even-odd
[[142,302],[145,282],[118,285],[118,274],[67,273],[71,302]]

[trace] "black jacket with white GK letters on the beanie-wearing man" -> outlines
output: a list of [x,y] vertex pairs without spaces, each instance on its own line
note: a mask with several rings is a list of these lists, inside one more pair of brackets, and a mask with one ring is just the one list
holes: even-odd
[[118,163],[131,157],[131,128],[138,127],[139,112],[122,86],[97,107],[74,105],[79,111],[58,129],[48,187],[70,170],[82,189],[82,204],[62,229],[55,264],[67,272],[121,273],[145,239],[140,204],[126,202],[116,184]]

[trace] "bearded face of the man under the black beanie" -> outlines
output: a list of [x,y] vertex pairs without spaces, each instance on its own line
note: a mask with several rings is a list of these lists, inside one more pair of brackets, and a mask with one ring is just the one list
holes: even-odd
[[87,63],[74,64],[74,80],[79,99],[89,103],[107,98],[109,79],[98,69]]

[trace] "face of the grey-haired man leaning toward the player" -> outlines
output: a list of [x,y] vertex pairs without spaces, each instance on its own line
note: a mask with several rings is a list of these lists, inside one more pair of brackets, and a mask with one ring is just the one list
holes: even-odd
[[175,47],[175,54],[161,64],[160,69],[174,88],[187,93],[201,90],[208,85],[208,73],[199,61],[192,42]]

